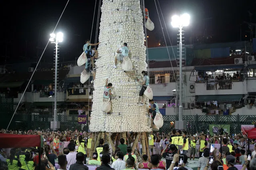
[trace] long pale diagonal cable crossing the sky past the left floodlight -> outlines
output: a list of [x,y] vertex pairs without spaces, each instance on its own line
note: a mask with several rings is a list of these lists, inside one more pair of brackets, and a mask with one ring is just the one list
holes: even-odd
[[[56,26],[55,26],[55,28],[54,28],[54,30],[53,30],[52,33],[54,33],[54,31],[56,30],[56,27],[58,26],[58,23],[59,23],[59,21],[60,21],[60,18],[62,17],[62,14],[64,13],[64,11],[65,11],[65,9],[66,9],[68,3],[69,3],[69,0],[67,1],[67,4],[65,5],[65,8],[63,9],[63,11],[62,11],[60,17],[58,18],[58,22],[57,22],[57,24],[56,24]],[[46,50],[46,47],[48,46],[49,42],[50,42],[50,40],[48,40],[48,42],[46,43],[46,45],[45,45],[45,47],[44,47],[44,51]],[[32,75],[31,75],[31,77],[30,77],[30,79],[29,79],[29,81],[28,81],[28,84],[27,84],[27,86],[26,86],[24,92],[22,93],[22,96],[21,96],[21,98],[20,98],[20,101],[19,101],[19,103],[18,103],[18,105],[17,105],[17,107],[16,107],[16,109],[15,109],[13,115],[12,115],[12,119],[13,119],[13,117],[14,117],[14,115],[15,115],[15,113],[16,113],[16,111],[17,111],[19,105],[20,105],[20,102],[21,102],[22,98],[24,97],[24,94],[25,94],[26,90],[28,89],[28,86],[29,86],[29,84],[30,84],[30,81],[31,81],[31,79],[32,79],[32,77],[33,77],[33,75],[34,75],[34,73],[36,72],[36,69],[37,69],[37,67],[38,67],[38,65],[39,65],[39,63],[40,63],[40,61],[41,61],[41,59],[42,59],[42,56],[44,55],[44,51],[42,52],[42,54],[41,54],[41,56],[40,56],[40,58],[39,58],[39,60],[38,60],[38,63],[36,64],[36,67],[35,67],[35,69],[34,69]],[[55,68],[55,69],[56,69],[56,68]],[[56,88],[56,87],[55,87],[55,88]],[[12,119],[10,120],[9,125],[8,125],[8,127],[6,128],[5,133],[6,133],[6,131],[8,130],[8,128],[9,128],[11,122],[12,122]]]

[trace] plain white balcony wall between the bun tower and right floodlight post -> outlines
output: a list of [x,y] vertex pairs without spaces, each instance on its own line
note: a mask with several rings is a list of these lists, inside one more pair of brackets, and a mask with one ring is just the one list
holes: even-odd
[[154,96],[170,96],[172,90],[177,89],[176,83],[158,83],[149,85],[153,91]]

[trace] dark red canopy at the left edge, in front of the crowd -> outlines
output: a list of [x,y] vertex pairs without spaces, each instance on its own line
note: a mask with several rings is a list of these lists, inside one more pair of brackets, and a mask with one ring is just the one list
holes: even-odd
[[40,135],[0,134],[1,148],[40,147],[40,142]]

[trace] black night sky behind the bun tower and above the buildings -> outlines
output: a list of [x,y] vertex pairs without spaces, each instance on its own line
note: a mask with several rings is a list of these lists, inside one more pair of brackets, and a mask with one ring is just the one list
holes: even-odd
[[[21,61],[36,62],[66,3],[67,0],[1,1],[3,34],[0,41],[1,65],[5,60],[6,64]],[[256,0],[159,0],[159,3],[173,42],[177,40],[177,28],[171,28],[170,25],[171,16],[174,14],[186,12],[191,16],[191,24],[184,28],[185,44],[197,43],[196,36],[208,37],[206,43],[239,41],[240,28],[242,28],[242,40],[250,40],[250,29],[244,23],[250,22],[248,11],[252,14],[251,22],[256,23]],[[155,24],[155,30],[148,31],[148,35],[152,36],[149,37],[149,42],[158,44],[163,42],[163,34],[155,2],[145,0],[145,4],[149,10],[149,17]],[[96,6],[92,43],[95,42],[98,5],[99,0]],[[79,57],[82,53],[83,44],[91,36],[94,6],[95,0],[69,1],[56,28],[56,32],[61,31],[64,34],[64,42],[60,44],[60,61],[75,60],[75,57]],[[159,15],[161,18],[161,13]],[[163,24],[162,18],[161,21]],[[165,30],[164,24],[163,28]],[[166,33],[166,30],[164,32]],[[167,45],[170,45],[169,41]],[[176,45],[176,42],[173,45]],[[49,44],[42,61],[52,62],[53,51],[54,45]]]

